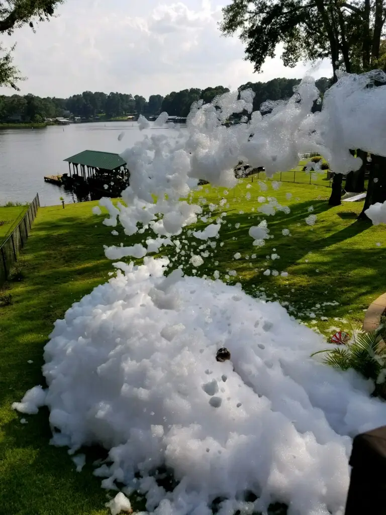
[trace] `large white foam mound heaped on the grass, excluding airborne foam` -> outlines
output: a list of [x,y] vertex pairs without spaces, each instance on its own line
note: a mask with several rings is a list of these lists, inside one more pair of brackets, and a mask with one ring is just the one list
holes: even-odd
[[[35,402],[49,407],[52,443],[103,445],[102,486],[139,490],[160,515],[209,513],[216,497],[230,513],[246,491],[258,497],[251,512],[278,501],[339,513],[351,437],[386,423],[386,405],[355,373],[311,359],[323,339],[278,303],[181,270],[165,279],[167,265],[124,266],[55,323]],[[220,347],[231,362],[216,361]],[[165,467],[171,492],[159,484]]]

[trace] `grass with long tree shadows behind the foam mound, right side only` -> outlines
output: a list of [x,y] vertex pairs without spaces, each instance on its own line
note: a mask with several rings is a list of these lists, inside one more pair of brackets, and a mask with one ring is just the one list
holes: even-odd
[[[213,256],[200,267],[200,274],[209,276],[218,269],[220,277],[224,278],[226,270],[236,270],[237,276],[231,276],[230,283],[240,282],[252,295],[264,294],[268,299],[289,302],[293,308],[290,313],[295,318],[326,334],[330,334],[327,330],[331,327],[349,332],[359,328],[363,310],[386,291],[386,278],[382,274],[384,228],[356,220],[362,209],[361,202],[343,202],[330,208],[326,200],[331,190],[324,186],[279,183],[276,191],[272,181],[265,184],[268,191],[260,191],[256,178],[253,183],[245,179],[225,196],[229,208],[225,227],[220,232],[225,243],[216,249],[220,251],[217,254],[219,265],[214,264],[217,260]],[[200,194],[207,202],[216,204],[224,197],[223,191],[224,188],[203,186]],[[292,194],[289,200],[287,193]],[[258,202],[259,196],[275,197],[280,204],[288,205],[290,214],[262,215],[257,212],[262,205]],[[305,222],[310,214],[317,215],[311,227]],[[253,247],[248,230],[262,219],[267,220],[274,238],[266,240],[264,247]],[[289,229],[291,236],[284,236],[283,229]],[[234,259],[236,252],[241,253],[240,259]],[[280,258],[267,259],[273,253]],[[252,254],[256,254],[256,258],[252,259]],[[267,277],[263,275],[267,268],[286,271],[289,275]],[[323,306],[332,301],[339,304]]]

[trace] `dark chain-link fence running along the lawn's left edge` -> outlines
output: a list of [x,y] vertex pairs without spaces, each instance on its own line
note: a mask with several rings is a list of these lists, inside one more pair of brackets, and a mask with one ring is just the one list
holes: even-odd
[[17,261],[17,255],[24,247],[31,230],[32,222],[36,218],[40,206],[39,195],[29,204],[26,214],[13,229],[0,247],[0,284],[9,277],[12,265]]

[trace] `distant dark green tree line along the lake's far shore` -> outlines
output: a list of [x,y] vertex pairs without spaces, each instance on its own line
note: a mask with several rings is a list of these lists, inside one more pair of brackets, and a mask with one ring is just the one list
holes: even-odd
[[[248,82],[239,91],[252,88],[256,96],[254,110],[266,100],[281,100],[293,94],[293,88],[300,79],[277,78],[268,82]],[[330,79],[321,78],[317,87],[321,94],[329,87]],[[223,86],[209,87],[204,90],[190,88],[172,91],[165,97],[151,95],[148,100],[140,95],[126,93],[110,94],[84,91],[69,98],[44,97],[36,95],[1,95],[0,121],[3,123],[44,123],[47,118],[61,116],[80,117],[84,120],[113,119],[129,115],[157,115],[166,111],[170,116],[187,116],[193,102],[203,99],[211,102],[217,95],[229,92]]]

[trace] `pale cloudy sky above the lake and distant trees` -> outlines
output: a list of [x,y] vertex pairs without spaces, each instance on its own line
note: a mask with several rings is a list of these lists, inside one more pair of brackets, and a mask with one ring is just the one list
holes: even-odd
[[[36,33],[17,29],[3,45],[17,42],[14,65],[27,81],[21,94],[68,97],[83,91],[166,95],[185,88],[223,85],[235,90],[252,81],[301,78],[310,64],[287,68],[280,48],[262,72],[244,60],[235,37],[221,35],[221,7],[230,0],[66,0]],[[323,61],[315,78],[330,76]],[[14,91],[0,88],[1,94]]]

